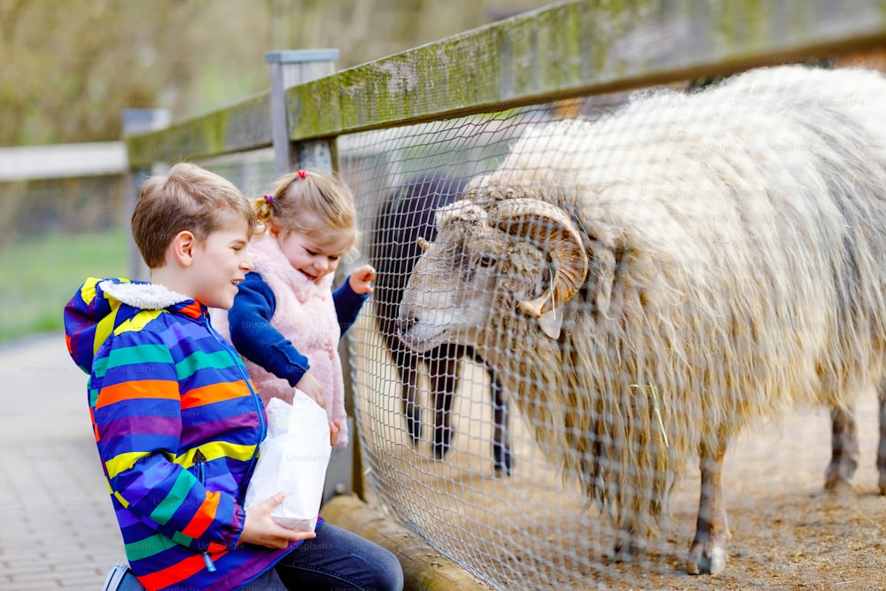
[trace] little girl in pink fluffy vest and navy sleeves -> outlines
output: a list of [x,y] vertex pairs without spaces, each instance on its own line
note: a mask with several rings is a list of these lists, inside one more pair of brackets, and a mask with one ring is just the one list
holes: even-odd
[[349,438],[338,340],[376,276],[364,265],[336,292],[330,289],[357,239],[354,197],[335,176],[299,170],[282,176],[274,194],[254,206],[260,228],[248,253],[255,268],[228,312],[230,341],[262,400],[291,402],[299,388],[326,408],[333,445],[344,447]]

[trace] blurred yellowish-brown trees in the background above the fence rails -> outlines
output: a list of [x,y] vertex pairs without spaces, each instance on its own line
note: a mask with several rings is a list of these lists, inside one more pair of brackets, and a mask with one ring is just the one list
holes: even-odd
[[0,145],[120,137],[120,111],[175,120],[268,89],[267,51],[336,47],[338,68],[545,0],[0,0]]

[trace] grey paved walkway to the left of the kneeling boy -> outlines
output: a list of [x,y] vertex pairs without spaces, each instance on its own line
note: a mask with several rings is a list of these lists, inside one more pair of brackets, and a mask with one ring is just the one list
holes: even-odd
[[96,591],[123,558],[86,381],[60,333],[0,346],[0,591]]

